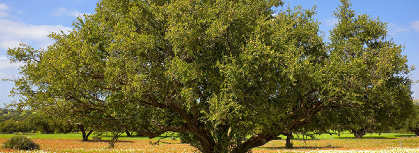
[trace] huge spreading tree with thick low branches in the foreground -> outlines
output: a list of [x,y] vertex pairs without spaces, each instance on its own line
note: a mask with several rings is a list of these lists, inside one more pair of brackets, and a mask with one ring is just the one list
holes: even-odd
[[[355,17],[346,0],[330,44],[314,9],[274,14],[282,4],[102,0],[70,33],[52,34],[56,42],[47,50],[8,50],[12,62],[25,63],[14,80],[13,94],[23,97],[16,105],[150,138],[186,133],[203,153],[245,153],[325,108],[380,105],[358,99],[387,96],[379,90],[385,82],[409,73],[385,24]],[[365,22],[347,31],[340,25],[349,19]]]

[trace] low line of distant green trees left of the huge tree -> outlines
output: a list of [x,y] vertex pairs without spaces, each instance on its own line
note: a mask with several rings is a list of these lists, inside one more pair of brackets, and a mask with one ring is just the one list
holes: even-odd
[[[85,123],[83,123],[83,121]],[[108,130],[106,130],[108,129]],[[103,133],[119,132],[128,137],[142,136],[120,128],[101,128],[98,122],[81,120],[80,118],[65,118],[59,115],[47,115],[45,113],[31,112],[30,110],[0,108],[0,133],[82,133],[82,140],[87,141],[95,132],[96,135]]]

